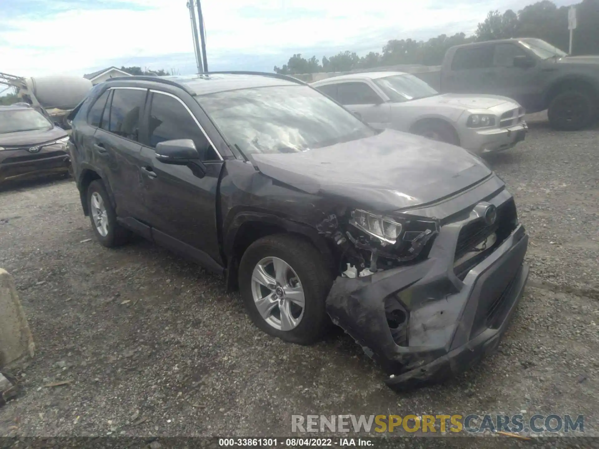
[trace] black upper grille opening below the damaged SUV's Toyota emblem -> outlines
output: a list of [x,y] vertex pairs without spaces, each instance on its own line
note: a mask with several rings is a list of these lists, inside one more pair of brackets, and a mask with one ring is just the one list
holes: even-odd
[[[454,260],[457,261],[466,253],[473,251],[477,245],[494,232],[497,235],[495,246],[500,245],[515,229],[517,222],[516,204],[513,199],[510,199],[497,208],[497,220],[494,225],[489,226],[482,219],[467,223],[459,232]],[[456,276],[463,279],[477,263],[480,263],[480,257],[473,257],[467,261],[466,265],[456,266],[454,272]]]

